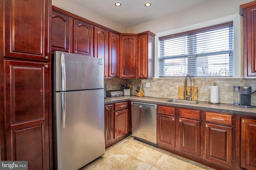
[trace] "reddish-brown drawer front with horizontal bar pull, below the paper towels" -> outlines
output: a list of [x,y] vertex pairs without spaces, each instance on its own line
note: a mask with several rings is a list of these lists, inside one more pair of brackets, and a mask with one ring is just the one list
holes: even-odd
[[232,125],[232,115],[205,112],[205,121]]

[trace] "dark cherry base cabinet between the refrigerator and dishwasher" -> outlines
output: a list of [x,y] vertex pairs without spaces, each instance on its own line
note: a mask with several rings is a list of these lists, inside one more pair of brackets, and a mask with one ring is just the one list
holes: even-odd
[[106,148],[128,137],[131,127],[129,117],[128,102],[105,105]]

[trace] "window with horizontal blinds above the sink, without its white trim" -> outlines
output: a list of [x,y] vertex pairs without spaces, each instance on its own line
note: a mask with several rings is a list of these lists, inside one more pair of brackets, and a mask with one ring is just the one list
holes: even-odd
[[159,37],[159,77],[232,77],[233,22]]

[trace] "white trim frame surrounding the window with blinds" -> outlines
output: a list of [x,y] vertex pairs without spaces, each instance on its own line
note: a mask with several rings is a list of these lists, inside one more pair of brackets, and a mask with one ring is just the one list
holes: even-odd
[[[226,24],[228,22],[233,22],[233,76],[230,77],[214,77],[214,76],[209,76],[209,77],[202,77],[202,78],[241,78],[243,75],[243,70],[241,70],[241,63],[242,61],[242,54],[241,54],[241,16],[239,14],[234,14],[231,16],[226,16],[223,18],[218,18],[215,20],[210,20],[206,21],[203,23],[198,23],[194,25],[189,25],[186,27],[181,27],[177,29],[172,29],[169,31],[165,31],[162,33],[157,33],[155,37],[155,71],[154,71],[154,78],[179,78],[179,77],[159,77],[158,76],[158,39],[159,37],[168,37],[170,35],[178,35],[178,34],[184,34],[184,32],[194,32],[194,30],[200,30],[205,27],[212,27],[213,25],[220,25],[220,24]],[[183,78],[183,77],[182,77]],[[200,78],[200,77],[196,77]]]

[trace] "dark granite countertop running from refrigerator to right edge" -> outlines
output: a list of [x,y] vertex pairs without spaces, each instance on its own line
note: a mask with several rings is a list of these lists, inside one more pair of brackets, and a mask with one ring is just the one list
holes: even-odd
[[200,110],[207,110],[207,111],[256,116],[256,106],[252,106],[252,108],[244,108],[240,106],[234,106],[233,104],[225,104],[225,103],[209,104],[208,102],[200,102],[200,101],[198,105],[185,105],[185,104],[174,104],[174,103],[164,102],[169,99],[170,98],[156,98],[156,97],[148,97],[148,96],[143,96],[143,97],[120,96],[120,97],[114,97],[114,98],[106,98],[104,100],[104,103],[112,104],[116,102],[125,102],[128,100],[131,100],[134,102],[145,102],[145,103],[160,104],[160,105],[166,105],[166,106],[186,107],[186,108],[200,109]]

